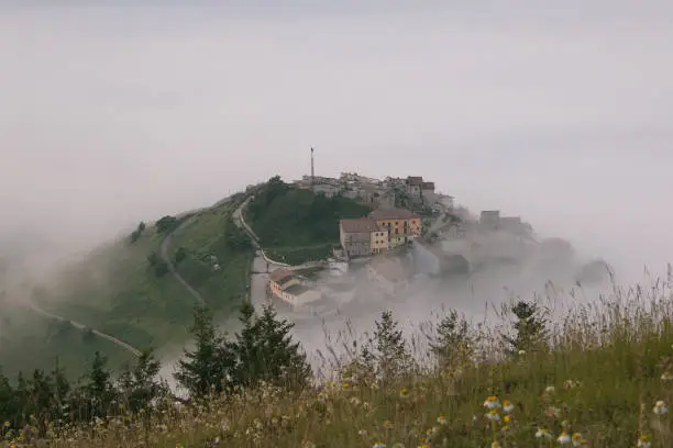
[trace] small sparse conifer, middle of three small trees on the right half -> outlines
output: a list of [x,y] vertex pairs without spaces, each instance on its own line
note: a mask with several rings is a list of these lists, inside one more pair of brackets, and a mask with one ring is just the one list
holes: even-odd
[[441,368],[456,367],[474,351],[474,338],[470,326],[457,311],[451,310],[440,322],[437,337],[430,341],[430,350]]

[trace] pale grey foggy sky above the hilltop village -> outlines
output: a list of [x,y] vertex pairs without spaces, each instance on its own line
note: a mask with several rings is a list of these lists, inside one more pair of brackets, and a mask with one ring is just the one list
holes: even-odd
[[671,258],[673,3],[282,3],[1,2],[0,243],[92,246],[313,146],[318,175],[420,175],[625,269]]

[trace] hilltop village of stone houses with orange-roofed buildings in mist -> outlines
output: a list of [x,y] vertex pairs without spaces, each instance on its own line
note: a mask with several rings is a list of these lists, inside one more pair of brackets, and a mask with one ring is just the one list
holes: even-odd
[[[379,180],[343,172],[339,178],[304,176],[290,186],[327,198],[347,198],[369,210],[360,217],[339,220],[339,245],[327,259],[269,273],[268,295],[293,307],[315,306],[331,295],[324,283],[307,279],[302,268],[323,268],[331,278],[328,284],[339,283],[340,277],[363,279],[369,294],[395,299],[404,296],[419,276],[468,273],[484,258],[519,258],[526,242],[533,240],[532,228],[519,216],[483,211],[473,217],[420,176]],[[494,237],[510,247],[492,254]]]

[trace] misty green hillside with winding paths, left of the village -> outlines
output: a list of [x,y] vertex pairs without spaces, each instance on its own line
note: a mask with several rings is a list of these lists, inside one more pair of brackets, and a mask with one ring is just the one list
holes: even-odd
[[[139,349],[181,345],[198,301],[169,272],[162,244],[175,231],[167,254],[176,271],[219,320],[225,320],[247,293],[254,256],[247,236],[231,220],[242,200],[239,194],[210,209],[179,219],[164,217],[142,231],[139,227],[133,235],[89,254],[64,272],[58,283],[37,288],[33,301],[48,313]],[[217,257],[217,269],[211,256]],[[82,331],[54,329],[48,318],[29,309],[12,312],[11,320],[15,336],[11,344],[0,345],[0,366],[8,372],[51,366],[54,356],[49,354],[63,354],[62,363],[71,376],[96,350],[110,358],[111,367],[129,359],[128,352],[98,337],[82,344]]]

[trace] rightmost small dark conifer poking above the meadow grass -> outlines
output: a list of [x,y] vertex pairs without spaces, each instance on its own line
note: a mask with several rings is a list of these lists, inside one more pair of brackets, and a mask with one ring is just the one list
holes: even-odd
[[506,351],[517,355],[520,351],[531,351],[544,348],[547,343],[548,318],[534,302],[520,301],[510,309],[517,317],[514,324],[515,336],[503,335],[507,344]]

